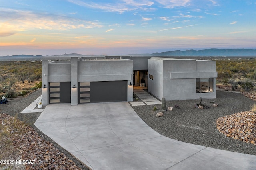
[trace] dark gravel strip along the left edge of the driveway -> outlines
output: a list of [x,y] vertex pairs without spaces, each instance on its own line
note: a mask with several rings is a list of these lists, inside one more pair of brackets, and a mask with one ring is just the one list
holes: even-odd
[[20,113],[28,105],[34,102],[34,100],[36,100],[41,94],[42,94],[42,89],[38,89],[32,92],[31,94],[29,94],[27,97],[8,99],[9,102],[7,104],[0,104],[0,112],[6,113],[13,117],[17,115],[18,119],[28,124],[30,127],[34,128],[42,139],[52,143],[52,145],[54,145],[54,147],[58,149],[60,152],[64,153],[67,156],[67,158],[69,158],[70,160],[73,160],[78,167],[80,167],[83,170],[89,170],[86,166],[84,166],[84,164],[82,164],[80,161],[74,158],[69,152],[67,152],[65,149],[60,147],[57,143],[55,143],[52,139],[50,139],[50,137],[46,136],[38,128],[35,127],[34,123],[40,116],[41,114],[40,112],[39,113]]

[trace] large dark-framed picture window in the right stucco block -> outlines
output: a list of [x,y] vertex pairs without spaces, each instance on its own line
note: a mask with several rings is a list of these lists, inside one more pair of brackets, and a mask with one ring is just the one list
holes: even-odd
[[213,92],[213,78],[196,78],[196,93]]

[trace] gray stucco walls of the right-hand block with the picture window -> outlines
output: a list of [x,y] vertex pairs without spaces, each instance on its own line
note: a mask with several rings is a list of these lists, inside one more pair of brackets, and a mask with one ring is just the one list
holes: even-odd
[[[162,66],[161,66],[162,64]],[[216,98],[216,63],[187,59],[148,59],[148,74],[162,76],[155,81],[148,80],[148,90],[166,100]],[[162,73],[161,73],[162,72]],[[196,78],[214,78],[214,91],[196,93]],[[161,88],[162,86],[162,88]],[[159,92],[162,90],[162,92]]]

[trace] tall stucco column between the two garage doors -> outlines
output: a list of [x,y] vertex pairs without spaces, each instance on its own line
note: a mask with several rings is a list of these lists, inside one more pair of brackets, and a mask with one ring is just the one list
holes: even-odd
[[[78,104],[78,57],[71,57],[71,105]],[[72,88],[75,85],[76,88]]]

